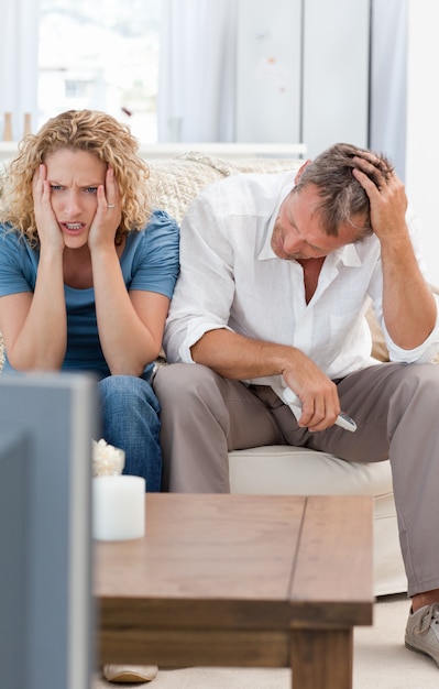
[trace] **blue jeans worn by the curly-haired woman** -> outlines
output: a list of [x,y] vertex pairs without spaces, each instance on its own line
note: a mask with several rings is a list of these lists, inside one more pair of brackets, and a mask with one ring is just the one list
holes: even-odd
[[149,493],[162,481],[160,405],[150,383],[133,375],[109,375],[98,383],[102,437],[125,452],[123,473],[143,477]]

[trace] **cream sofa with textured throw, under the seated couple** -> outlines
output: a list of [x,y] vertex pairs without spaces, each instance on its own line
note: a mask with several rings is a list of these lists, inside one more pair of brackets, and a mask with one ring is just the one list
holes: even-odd
[[[226,160],[193,151],[147,163],[154,206],[167,210],[179,222],[190,200],[207,184],[242,172],[276,173],[297,168],[303,161],[263,157]],[[380,361],[385,361],[384,339],[372,311],[367,320],[373,337],[372,353]],[[2,354],[0,335],[0,367]],[[165,364],[164,356],[158,363]],[[231,491],[234,493],[371,495],[374,593],[386,595],[407,590],[388,460],[354,463],[309,449],[271,446],[232,451],[229,463]]]

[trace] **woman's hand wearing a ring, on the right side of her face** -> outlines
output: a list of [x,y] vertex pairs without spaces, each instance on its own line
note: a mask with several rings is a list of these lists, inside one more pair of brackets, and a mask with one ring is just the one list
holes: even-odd
[[88,244],[92,249],[114,247],[114,238],[122,217],[120,192],[111,167],[107,169],[106,186],[97,189],[96,215],[91,222]]

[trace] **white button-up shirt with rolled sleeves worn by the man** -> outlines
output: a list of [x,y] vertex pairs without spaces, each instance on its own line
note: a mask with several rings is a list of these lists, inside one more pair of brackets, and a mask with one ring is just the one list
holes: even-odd
[[[191,362],[190,347],[205,332],[229,328],[295,347],[329,378],[342,378],[374,362],[364,317],[371,303],[392,360],[431,360],[439,348],[438,324],[414,350],[402,350],[385,329],[380,241],[374,234],[330,253],[306,303],[301,265],[278,259],[271,248],[274,222],[295,175],[233,175],[206,187],[193,201],[182,222],[182,269],[166,322],[168,361]],[[419,222],[410,210],[407,225],[424,271]],[[281,376],[252,382],[282,384]]]

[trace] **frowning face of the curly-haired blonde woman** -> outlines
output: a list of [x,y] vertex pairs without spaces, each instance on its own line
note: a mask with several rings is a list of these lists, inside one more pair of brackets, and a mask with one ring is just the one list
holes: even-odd
[[87,151],[61,149],[45,160],[51,203],[66,247],[87,244],[97,209],[97,189],[107,165]]

